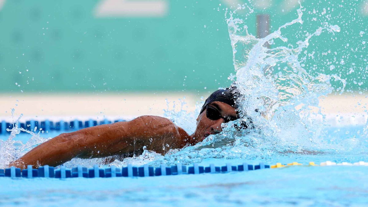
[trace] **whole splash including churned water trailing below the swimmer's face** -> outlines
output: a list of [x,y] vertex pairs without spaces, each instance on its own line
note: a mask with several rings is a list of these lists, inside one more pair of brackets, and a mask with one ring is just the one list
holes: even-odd
[[[235,11],[226,10],[233,64],[236,75],[229,79],[242,94],[237,100],[243,118],[223,125],[223,133],[211,135],[203,142],[184,150],[170,153],[151,164],[190,164],[205,158],[263,158],[270,159],[283,152],[321,150],[325,115],[321,113],[318,98],[330,94],[330,81],[341,81],[344,91],[346,81],[338,75],[318,74],[314,77],[301,64],[300,55],[309,46],[309,40],[322,32],[334,35],[337,25],[325,23],[312,33],[306,33],[297,47],[286,45],[288,39],[282,30],[294,24],[303,24],[303,7],[297,9],[297,18],[287,22],[265,38],[257,39],[248,33],[248,27],[239,10],[251,7],[238,6]],[[284,45],[275,45],[276,39]],[[266,47],[266,43],[272,48]],[[259,110],[255,110],[259,109]],[[261,114],[259,113],[261,112]],[[238,131],[234,124],[252,120],[254,129]],[[328,148],[332,147],[331,145]],[[323,147],[322,147],[323,148]]]

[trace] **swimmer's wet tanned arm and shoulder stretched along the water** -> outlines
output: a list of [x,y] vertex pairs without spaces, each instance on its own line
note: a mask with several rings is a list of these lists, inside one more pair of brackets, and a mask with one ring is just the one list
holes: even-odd
[[[117,122],[63,133],[27,152],[10,166],[57,166],[72,158],[99,158],[142,149],[164,154],[181,148],[183,130],[169,119],[141,116],[130,122]],[[169,145],[169,147],[167,147]]]

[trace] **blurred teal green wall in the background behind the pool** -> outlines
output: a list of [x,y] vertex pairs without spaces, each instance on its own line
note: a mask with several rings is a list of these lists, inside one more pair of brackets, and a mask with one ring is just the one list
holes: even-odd
[[[222,11],[227,5],[220,0],[167,1],[164,17],[97,18],[93,14],[98,1],[6,0],[0,9],[0,91],[202,91],[228,85],[233,66]],[[255,34],[259,13],[271,14],[271,31],[296,18],[296,8],[281,11],[282,2],[272,1],[267,9],[252,13],[246,20],[249,31]],[[366,88],[366,83],[353,83],[354,78],[357,83],[364,80],[367,66],[361,42],[368,42],[368,18],[358,8],[362,1],[333,6],[318,2],[302,3],[307,9],[303,26],[284,30],[289,43],[296,45],[304,31],[313,32],[327,20],[326,14],[318,16],[322,8],[334,8],[328,10],[328,21],[342,32],[312,38],[308,53],[316,51],[315,58],[307,56],[305,68],[341,73],[351,80],[348,88]],[[318,13],[308,14],[313,8]],[[362,37],[360,31],[365,31]],[[332,52],[322,55],[328,50]],[[334,63],[336,69],[330,72],[333,57],[345,64]],[[354,72],[348,74],[350,68]]]

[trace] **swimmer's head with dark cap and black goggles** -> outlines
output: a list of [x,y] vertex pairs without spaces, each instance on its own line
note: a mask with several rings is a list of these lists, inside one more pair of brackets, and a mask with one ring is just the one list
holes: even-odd
[[193,134],[195,143],[210,134],[220,133],[222,123],[238,119],[235,102],[238,96],[236,87],[217,90],[209,95],[197,118],[197,129]]

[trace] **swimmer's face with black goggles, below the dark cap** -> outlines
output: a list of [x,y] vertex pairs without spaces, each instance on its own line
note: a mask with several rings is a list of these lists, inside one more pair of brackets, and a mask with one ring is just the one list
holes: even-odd
[[202,141],[210,134],[220,133],[222,123],[236,119],[236,111],[229,104],[220,101],[210,103],[197,118],[197,129],[193,134],[194,142]]

